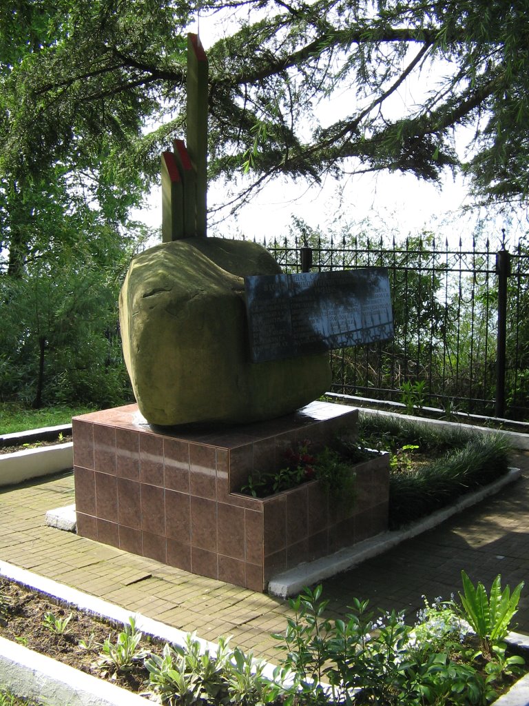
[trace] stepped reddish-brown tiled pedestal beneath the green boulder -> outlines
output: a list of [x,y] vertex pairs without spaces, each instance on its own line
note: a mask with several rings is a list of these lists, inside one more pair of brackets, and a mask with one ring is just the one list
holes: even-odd
[[317,453],[356,433],[358,410],[326,402],[280,419],[212,431],[152,429],[137,405],[73,419],[78,534],[255,591],[272,575],[387,529],[386,457],[355,467],[354,507],[312,481],[269,498],[238,490],[286,465],[310,439]]

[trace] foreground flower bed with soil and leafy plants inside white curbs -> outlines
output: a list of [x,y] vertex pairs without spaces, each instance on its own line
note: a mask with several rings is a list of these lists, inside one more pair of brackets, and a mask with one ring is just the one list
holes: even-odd
[[511,594],[498,577],[487,595],[462,578],[460,601],[425,601],[413,626],[394,611],[375,616],[359,599],[332,620],[321,587],[305,590],[290,602],[285,632],[274,635],[285,657],[273,676],[226,640],[214,648],[188,635],[180,645],[164,644],[142,635],[133,618],[104,623],[5,582],[1,622],[13,621],[11,639],[31,644],[33,633],[41,635],[40,649],[58,659],[167,705],[279,706],[294,695],[322,706],[485,704],[525,671],[521,652],[506,642],[521,586]]

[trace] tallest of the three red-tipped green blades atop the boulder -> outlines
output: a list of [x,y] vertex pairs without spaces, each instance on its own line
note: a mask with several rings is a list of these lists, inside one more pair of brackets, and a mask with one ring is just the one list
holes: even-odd
[[207,234],[207,56],[198,35],[188,34],[188,152],[196,173],[196,234]]

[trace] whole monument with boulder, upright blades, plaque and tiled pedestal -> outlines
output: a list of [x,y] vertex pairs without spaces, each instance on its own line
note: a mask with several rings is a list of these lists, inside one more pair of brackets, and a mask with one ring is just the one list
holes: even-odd
[[[310,439],[356,433],[358,410],[314,402],[327,350],[389,337],[387,274],[283,275],[247,241],[206,237],[207,58],[188,36],[188,144],[162,155],[162,244],[130,264],[121,335],[138,405],[73,419],[78,534],[266,590],[277,573],[387,529],[387,457],[354,469],[357,502],[320,481],[241,493]],[[333,273],[331,273],[333,274]]]

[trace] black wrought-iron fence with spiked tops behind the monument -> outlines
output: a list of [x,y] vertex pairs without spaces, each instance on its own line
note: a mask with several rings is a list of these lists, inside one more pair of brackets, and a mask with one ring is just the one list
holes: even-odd
[[[504,241],[503,241],[504,242]],[[529,251],[434,239],[265,243],[286,272],[388,269],[394,340],[332,352],[332,390],[529,419]]]

